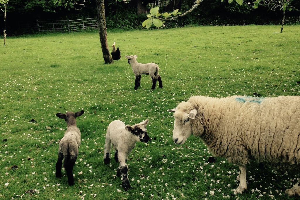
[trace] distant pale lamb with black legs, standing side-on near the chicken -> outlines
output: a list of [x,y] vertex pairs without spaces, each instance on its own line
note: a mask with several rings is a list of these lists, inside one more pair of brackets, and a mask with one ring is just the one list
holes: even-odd
[[147,63],[142,64],[137,62],[137,55],[126,55],[125,56],[128,59],[128,63],[131,64],[132,71],[135,75],[135,85],[134,89],[137,90],[137,88],[140,86],[141,81],[141,75],[142,74],[149,74],[152,78],[152,88],[155,89],[156,82],[159,83],[159,88],[163,88],[163,84],[161,82],[161,75],[159,75],[159,67],[155,63]]

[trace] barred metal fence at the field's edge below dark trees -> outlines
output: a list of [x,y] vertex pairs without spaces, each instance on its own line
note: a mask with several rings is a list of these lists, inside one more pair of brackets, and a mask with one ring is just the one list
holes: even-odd
[[98,28],[97,18],[55,20],[55,21],[36,21],[36,25],[31,24],[32,28],[38,28],[38,32],[75,32],[80,30]]

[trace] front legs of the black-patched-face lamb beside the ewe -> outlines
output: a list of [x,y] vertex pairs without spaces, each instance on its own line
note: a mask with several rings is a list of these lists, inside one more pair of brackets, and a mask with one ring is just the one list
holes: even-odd
[[129,178],[128,178],[128,166],[126,164],[127,155],[118,151],[118,158],[120,162],[120,166],[117,169],[117,176],[122,175],[122,187],[125,190],[130,188]]

